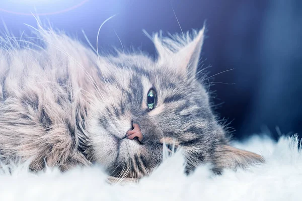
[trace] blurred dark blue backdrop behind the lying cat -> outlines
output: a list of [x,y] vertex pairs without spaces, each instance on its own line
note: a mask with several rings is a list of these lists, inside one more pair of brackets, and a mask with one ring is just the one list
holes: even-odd
[[[0,11],[0,16],[19,36],[24,30],[30,33],[23,23],[36,24],[33,16],[22,13],[56,12],[82,0],[53,1],[3,0],[0,9],[20,14]],[[96,45],[100,25],[118,14],[101,29],[99,48],[114,52],[112,47],[121,47],[115,31],[124,48],[155,55],[142,29],[181,32],[172,8],[183,31],[200,29],[206,20],[202,60],[203,67],[212,66],[209,76],[235,68],[210,79],[229,83],[215,83],[210,90],[216,91],[216,111],[237,130],[235,137],[265,131],[277,138],[276,126],[285,134],[302,133],[302,1],[89,0],[79,8],[40,19],[49,19],[53,27],[85,42],[83,29]]]

